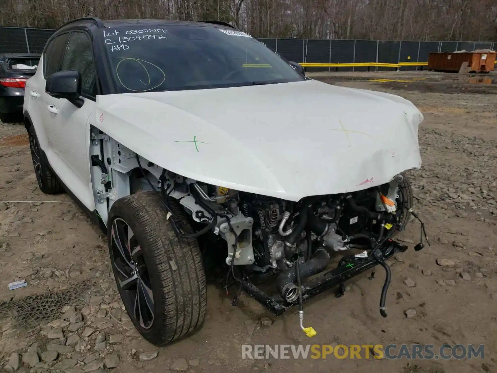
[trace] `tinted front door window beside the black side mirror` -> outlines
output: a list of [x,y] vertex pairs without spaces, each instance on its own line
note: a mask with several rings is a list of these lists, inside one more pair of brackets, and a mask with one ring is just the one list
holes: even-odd
[[95,96],[95,64],[91,40],[83,32],[72,32],[62,70],[78,70],[81,74],[81,92]]

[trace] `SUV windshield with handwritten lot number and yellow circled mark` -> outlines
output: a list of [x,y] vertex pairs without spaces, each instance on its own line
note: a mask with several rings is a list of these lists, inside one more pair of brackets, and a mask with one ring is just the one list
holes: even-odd
[[119,93],[304,80],[288,62],[241,31],[167,25],[115,27],[102,32]]

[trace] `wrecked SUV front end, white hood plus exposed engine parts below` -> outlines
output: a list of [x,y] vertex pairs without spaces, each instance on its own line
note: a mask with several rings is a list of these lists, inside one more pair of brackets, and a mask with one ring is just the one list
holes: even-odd
[[[296,95],[308,111],[292,107]],[[276,103],[288,109],[273,115]],[[215,267],[227,291],[234,285],[276,315],[299,306],[302,318],[306,299],[334,286],[340,295],[346,280],[381,266],[386,317],[386,260],[407,250],[394,237],[417,217],[406,172],[421,165],[423,116],[411,102],[303,80],[110,94],[97,97],[97,107],[105,117],[99,130],[129,153],[111,168],[136,171],[138,161],[176,235],[197,239],[204,262],[224,253]],[[178,125],[159,115],[144,123],[137,107]]]

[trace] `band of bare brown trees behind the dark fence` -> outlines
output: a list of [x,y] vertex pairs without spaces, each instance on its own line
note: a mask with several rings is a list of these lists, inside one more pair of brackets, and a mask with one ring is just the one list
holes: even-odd
[[1,0],[0,25],[71,19],[233,22],[256,37],[497,40],[496,0]]

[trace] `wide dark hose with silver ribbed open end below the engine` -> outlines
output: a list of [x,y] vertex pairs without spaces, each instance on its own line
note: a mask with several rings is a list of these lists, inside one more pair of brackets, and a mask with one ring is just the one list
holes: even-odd
[[[330,254],[325,249],[318,249],[314,255],[313,259],[308,260],[305,263],[299,264],[300,278],[305,279],[311,277],[320,272],[323,272],[330,261]],[[289,302],[295,301],[298,296],[300,289],[295,285],[297,280],[297,274],[295,272],[295,266],[289,268],[288,270],[282,272],[276,278],[276,287],[278,291]]]

